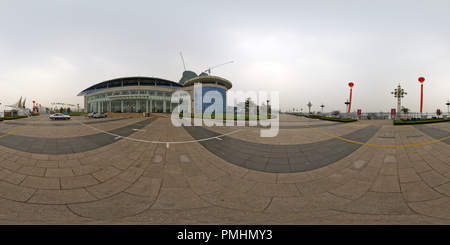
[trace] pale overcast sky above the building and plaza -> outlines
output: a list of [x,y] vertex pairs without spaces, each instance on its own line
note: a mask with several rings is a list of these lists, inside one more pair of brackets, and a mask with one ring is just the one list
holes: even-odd
[[[280,107],[424,112],[450,99],[450,1],[0,0],[0,110],[21,96],[83,104],[101,81],[211,70]],[[27,106],[31,106],[28,103]]]

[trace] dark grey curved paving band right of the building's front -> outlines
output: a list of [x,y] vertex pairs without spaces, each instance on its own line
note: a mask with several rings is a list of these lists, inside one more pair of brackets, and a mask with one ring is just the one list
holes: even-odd
[[[204,127],[185,126],[184,129],[194,139],[219,135]],[[380,129],[381,126],[367,126],[339,138],[297,145],[260,144],[229,136],[199,143],[216,156],[247,169],[295,173],[321,168],[343,159],[362,146],[354,142],[366,142]]]

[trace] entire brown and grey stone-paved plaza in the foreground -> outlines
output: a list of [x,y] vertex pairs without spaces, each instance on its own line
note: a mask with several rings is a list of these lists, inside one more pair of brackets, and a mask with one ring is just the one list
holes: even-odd
[[0,223],[448,224],[450,124],[0,122]]

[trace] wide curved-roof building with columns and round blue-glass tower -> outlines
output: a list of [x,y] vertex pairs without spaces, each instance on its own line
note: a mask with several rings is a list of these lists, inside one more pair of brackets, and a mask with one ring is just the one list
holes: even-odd
[[[201,92],[195,86],[199,84]],[[207,108],[222,113],[226,111],[226,92],[231,87],[231,82],[216,76],[193,77],[183,84],[154,77],[125,77],[95,84],[78,96],[84,96],[85,112],[170,113],[178,106],[171,101],[172,94],[182,90],[191,96],[191,110],[195,113],[203,113]]]

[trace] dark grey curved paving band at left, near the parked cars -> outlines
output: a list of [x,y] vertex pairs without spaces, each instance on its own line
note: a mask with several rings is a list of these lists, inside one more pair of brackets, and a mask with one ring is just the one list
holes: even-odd
[[[126,137],[135,133],[133,129],[141,129],[155,120],[156,118],[149,118],[108,132]],[[29,127],[32,124],[26,127]],[[13,134],[26,127],[1,135],[0,145],[23,152],[58,155],[95,150],[122,139],[104,133],[68,138],[39,138]]]

